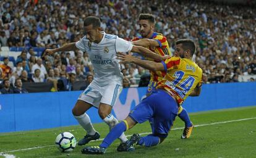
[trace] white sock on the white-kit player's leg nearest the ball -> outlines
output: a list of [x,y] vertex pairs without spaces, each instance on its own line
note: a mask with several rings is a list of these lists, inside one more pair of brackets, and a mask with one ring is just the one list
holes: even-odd
[[77,119],[79,124],[83,127],[83,129],[85,129],[85,131],[87,131],[88,135],[95,135],[96,131],[92,126],[90,117],[86,113],[82,114],[80,116],[74,115],[74,117]]

